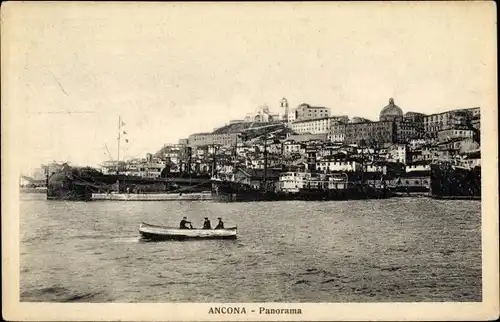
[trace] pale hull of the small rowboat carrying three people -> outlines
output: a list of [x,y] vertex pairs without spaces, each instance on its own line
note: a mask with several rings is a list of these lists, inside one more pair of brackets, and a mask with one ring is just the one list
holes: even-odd
[[186,240],[186,239],[236,239],[236,227],[225,229],[179,229],[141,223],[141,237],[145,240]]

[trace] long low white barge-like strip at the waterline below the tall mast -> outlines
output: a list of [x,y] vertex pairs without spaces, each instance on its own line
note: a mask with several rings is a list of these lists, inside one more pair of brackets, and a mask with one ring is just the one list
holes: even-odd
[[114,201],[212,200],[212,194],[210,192],[194,192],[194,193],[93,193],[92,200],[114,200]]

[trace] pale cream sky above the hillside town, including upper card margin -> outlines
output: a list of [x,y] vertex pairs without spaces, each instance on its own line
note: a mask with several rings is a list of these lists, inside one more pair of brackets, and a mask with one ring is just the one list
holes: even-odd
[[10,5],[2,108],[23,168],[96,165],[105,145],[116,158],[119,115],[128,158],[282,97],[372,120],[389,97],[404,112],[496,108],[488,2]]

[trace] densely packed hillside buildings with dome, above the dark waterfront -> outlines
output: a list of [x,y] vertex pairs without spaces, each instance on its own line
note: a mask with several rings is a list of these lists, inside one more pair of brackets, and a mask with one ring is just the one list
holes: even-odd
[[[329,108],[309,104],[290,109],[286,99],[280,108],[281,113],[271,113],[261,107],[211,133],[192,134],[144,159],[118,165],[110,161],[102,170],[112,173],[119,167],[120,173],[142,177],[176,172],[234,175],[241,170],[258,177],[267,166],[281,172],[391,173],[407,178],[402,180],[408,185],[428,185],[430,164],[436,160],[469,168],[480,165],[479,107],[431,115],[403,113],[391,98],[378,121],[332,116]],[[266,134],[243,140],[241,134],[248,131]],[[278,134],[264,141],[269,133]]]

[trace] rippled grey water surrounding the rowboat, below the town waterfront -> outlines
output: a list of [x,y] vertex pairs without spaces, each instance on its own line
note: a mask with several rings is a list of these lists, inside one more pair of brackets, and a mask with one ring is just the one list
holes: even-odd
[[[236,241],[144,243],[187,215]],[[21,201],[21,301],[481,301],[478,201]]]

